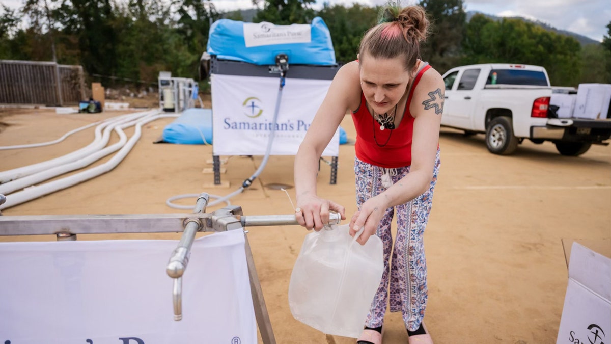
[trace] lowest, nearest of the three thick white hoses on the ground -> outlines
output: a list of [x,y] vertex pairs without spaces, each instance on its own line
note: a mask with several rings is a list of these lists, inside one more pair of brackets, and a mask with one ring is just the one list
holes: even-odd
[[[158,111],[159,110],[155,110],[155,112]],[[100,174],[111,171],[113,168],[119,165],[121,160],[125,158],[125,156],[136,144],[142,133],[142,125],[154,121],[155,119],[167,117],[177,117],[177,114],[159,114],[155,116],[153,113],[151,113],[151,116],[140,119],[136,124],[134,135],[131,136],[130,140],[128,140],[125,146],[123,146],[120,151],[117,152],[117,154],[115,154],[114,157],[112,157],[108,162],[90,168],[89,170],[73,174],[72,176],[57,179],[56,181],[51,181],[46,184],[37,185],[20,192],[12,193],[9,197],[7,197],[6,203],[0,205],[0,210],[16,206],[17,204],[21,204],[26,201],[34,200],[35,198],[48,195],[49,193],[53,193],[58,190],[66,189],[67,187],[71,187],[99,176]]]

